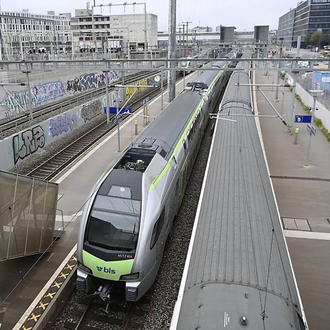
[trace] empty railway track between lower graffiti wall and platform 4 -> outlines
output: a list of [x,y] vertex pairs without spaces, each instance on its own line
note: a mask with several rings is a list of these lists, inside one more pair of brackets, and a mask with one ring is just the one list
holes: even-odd
[[[164,84],[165,86],[165,84]],[[132,112],[134,113],[143,105],[143,99],[149,96],[151,99],[159,94],[159,88],[150,91],[143,97],[133,102]],[[122,122],[128,120],[130,115],[123,116]],[[60,171],[62,171],[67,165],[71,164],[77,159],[83,152],[95,145],[101,137],[113,132],[116,128],[116,124],[108,125],[107,121],[104,120],[98,126],[93,128],[91,131],[82,135],[79,139],[69,144],[66,148],[54,154],[44,163],[38,165],[27,176],[33,177],[39,180],[51,180]]]

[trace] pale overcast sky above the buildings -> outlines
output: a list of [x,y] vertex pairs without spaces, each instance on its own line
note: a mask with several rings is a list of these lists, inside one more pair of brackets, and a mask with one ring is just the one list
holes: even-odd
[[[92,4],[93,0],[90,0]],[[96,4],[108,4],[110,1],[96,0]],[[111,1],[123,3],[122,1]],[[127,1],[134,2],[134,1]],[[137,1],[144,2],[144,1]],[[168,1],[145,0],[147,13],[158,16],[158,31],[166,31],[168,25]],[[197,25],[211,26],[215,31],[217,25],[234,25],[238,31],[251,31],[254,25],[269,25],[270,29],[278,28],[278,20],[290,7],[294,8],[297,0],[177,0],[177,24],[182,21],[192,21],[189,27]],[[74,16],[75,9],[86,7],[83,0],[2,0],[1,9],[9,11],[21,11],[29,9],[35,14],[47,14],[48,10],[55,14],[71,12]],[[108,7],[109,8],[109,7]],[[109,14],[109,9],[103,9],[102,14]],[[112,9],[112,14],[124,14],[123,7],[120,10]],[[135,6],[135,13],[142,13],[142,6]],[[126,14],[131,14],[132,6],[126,6]]]

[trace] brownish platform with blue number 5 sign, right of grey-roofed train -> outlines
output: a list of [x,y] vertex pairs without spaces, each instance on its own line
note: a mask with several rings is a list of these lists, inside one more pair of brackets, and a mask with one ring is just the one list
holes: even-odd
[[[269,71],[268,76],[263,73],[263,70],[255,73],[254,83],[271,84],[272,72]],[[268,99],[275,99],[275,87],[273,91],[272,87],[261,88]],[[256,90],[253,94],[259,115],[275,115],[260,92]],[[279,96],[280,102],[273,102],[273,105],[281,113],[281,91]],[[292,93],[287,89],[283,107],[286,122],[289,122],[291,99]],[[296,115],[306,115],[297,99],[295,106]],[[296,145],[295,134],[291,134],[279,118],[259,117],[259,120],[309,329],[326,330],[329,329],[330,304],[330,143],[316,127],[309,166],[305,166],[309,139],[307,124],[295,124],[292,128],[292,132],[299,128]]]

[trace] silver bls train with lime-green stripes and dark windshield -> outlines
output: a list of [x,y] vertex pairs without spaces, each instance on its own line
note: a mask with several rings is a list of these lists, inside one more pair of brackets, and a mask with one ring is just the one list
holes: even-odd
[[93,187],[78,236],[78,289],[112,282],[137,301],[154,282],[209,112],[228,82],[227,64],[187,86]]

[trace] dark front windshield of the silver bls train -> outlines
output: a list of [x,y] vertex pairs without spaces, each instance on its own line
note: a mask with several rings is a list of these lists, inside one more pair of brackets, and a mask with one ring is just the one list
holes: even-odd
[[86,240],[110,250],[135,250],[140,208],[140,200],[98,195],[89,215]]

